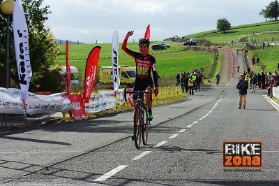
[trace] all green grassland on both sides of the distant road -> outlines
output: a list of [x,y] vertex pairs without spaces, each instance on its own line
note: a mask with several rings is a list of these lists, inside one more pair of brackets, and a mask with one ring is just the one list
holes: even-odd
[[[225,34],[217,30],[201,32],[197,34],[192,34],[187,37],[206,39],[212,43],[223,43],[225,41],[239,41],[241,38],[246,38],[247,41],[263,42],[263,41],[278,41],[278,31],[279,31],[279,21],[269,21],[269,22],[260,22],[257,24],[245,24],[236,27],[232,27],[229,31],[226,31]],[[121,39],[119,39],[121,42]],[[152,41],[151,45],[161,43],[161,41]],[[166,42],[168,43],[168,42]],[[172,84],[172,80],[176,76],[176,73],[180,71],[193,71],[194,69],[199,69],[203,67],[206,69],[204,76],[208,76],[209,69],[213,64],[213,52],[207,50],[194,51],[193,49],[188,49],[187,47],[180,45],[179,43],[170,43],[171,47],[167,50],[151,50],[151,55],[156,57],[156,62],[158,65],[158,73],[161,80],[165,80]],[[111,43],[101,43],[101,44],[76,44],[70,45],[70,64],[76,66],[78,69],[81,69],[84,72],[86,58],[91,51],[91,49],[99,45],[102,47],[100,50],[100,59],[99,59],[99,69],[100,66],[111,66]],[[259,57],[261,62],[266,65],[266,71],[274,71],[277,69],[277,64],[279,62],[279,56],[277,55],[279,48],[267,46],[265,50],[260,49],[259,47],[255,50],[250,50],[248,52],[249,57],[252,56]],[[66,64],[65,60],[65,45],[61,45],[61,50],[58,56],[58,64]],[[227,45],[224,48],[233,48],[234,45]],[[239,47],[239,46],[238,46]],[[138,51],[138,45],[136,42],[129,42],[128,48],[134,51]],[[220,71],[221,69],[221,52],[219,53],[218,63],[215,70]],[[119,43],[119,64],[120,65],[130,65],[135,66],[134,59],[121,50],[121,43]],[[259,66],[253,66],[252,71],[261,71]],[[83,78],[83,77],[82,77]],[[210,78],[210,77],[206,77]],[[209,79],[210,80],[210,79]],[[211,79],[211,82],[214,81],[214,78]],[[174,81],[175,82],[175,81]]]

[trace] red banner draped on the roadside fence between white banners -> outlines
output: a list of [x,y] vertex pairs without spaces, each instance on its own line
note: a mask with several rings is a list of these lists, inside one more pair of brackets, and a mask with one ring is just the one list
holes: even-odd
[[73,117],[75,117],[76,120],[86,117],[82,94],[70,94],[69,99],[74,106],[74,109],[71,110]]

